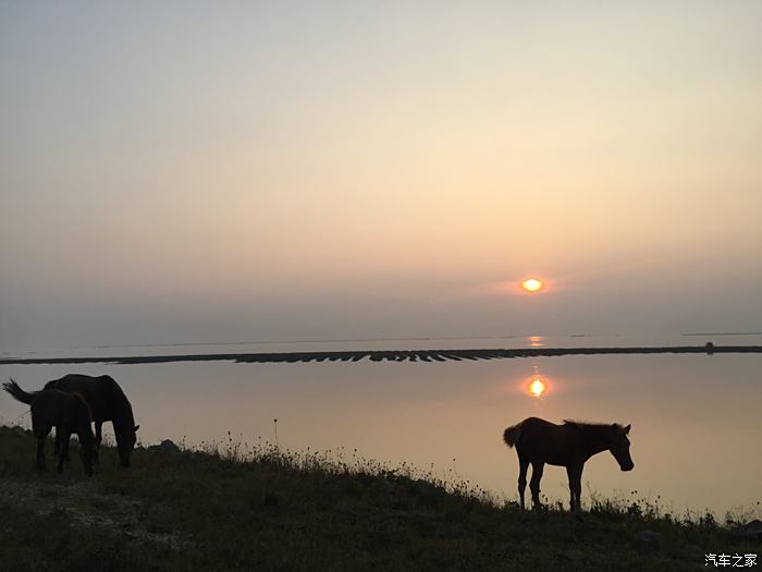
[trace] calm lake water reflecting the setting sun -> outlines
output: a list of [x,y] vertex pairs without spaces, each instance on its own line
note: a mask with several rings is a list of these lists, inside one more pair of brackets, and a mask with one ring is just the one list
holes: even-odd
[[[14,356],[149,355],[360,349],[523,346],[760,345],[762,336],[570,337],[386,340],[330,343],[75,348]],[[5,352],[8,354],[8,352]],[[455,475],[517,498],[516,452],[505,427],[528,416],[632,424],[635,470],[609,453],[591,459],[582,501],[603,496],[661,497],[684,513],[754,509],[762,501],[762,354],[578,355],[463,362],[143,365],[5,365],[25,389],[67,373],[108,374],[127,393],[144,445],[170,438],[188,445],[278,439],[282,448],[357,449],[366,458],[403,461]],[[539,378],[545,391],[533,395]],[[28,407],[0,395],[0,422]],[[22,421],[28,423],[28,416]],[[108,426],[110,433],[111,426]],[[30,454],[30,466],[33,451]],[[566,472],[545,468],[543,494],[566,502]]]

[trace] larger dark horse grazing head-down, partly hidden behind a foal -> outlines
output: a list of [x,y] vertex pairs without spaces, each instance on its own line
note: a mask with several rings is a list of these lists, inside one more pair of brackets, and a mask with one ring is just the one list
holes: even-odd
[[[89,405],[93,421],[95,422],[95,462],[98,462],[98,449],[102,440],[102,425],[106,422],[113,424],[116,450],[120,463],[124,467],[130,466],[130,459],[137,440],[136,431],[139,425],[135,425],[133,409],[122,388],[111,376],[86,376],[82,374],[67,374],[59,379],[53,379],[45,385],[40,391],[26,392],[11,380],[3,387],[11,395],[24,403],[30,403],[35,395],[46,390],[56,389],[65,393],[78,393]],[[29,400],[29,401],[26,401]],[[69,436],[56,431],[56,453],[67,448]]]

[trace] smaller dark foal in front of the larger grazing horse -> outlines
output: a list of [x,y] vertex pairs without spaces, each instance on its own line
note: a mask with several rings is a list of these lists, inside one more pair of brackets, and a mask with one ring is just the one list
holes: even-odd
[[85,399],[79,393],[66,393],[56,389],[46,389],[27,393],[11,379],[3,384],[3,389],[14,399],[29,405],[32,411],[32,429],[37,437],[37,468],[45,471],[45,441],[50,429],[56,427],[57,438],[61,437],[62,447],[58,451],[58,472],[63,472],[63,461],[69,458],[69,439],[73,433],[79,438],[79,458],[85,474],[93,475],[95,454],[95,436],[93,435],[93,414]]

